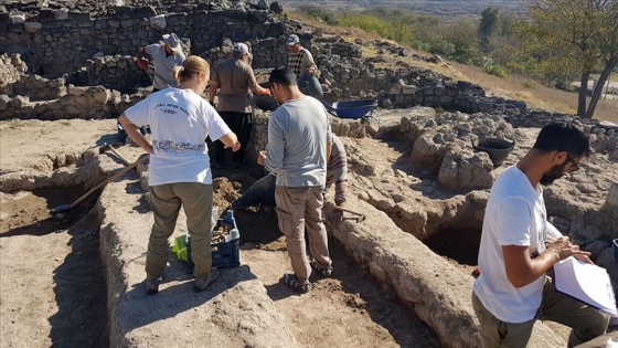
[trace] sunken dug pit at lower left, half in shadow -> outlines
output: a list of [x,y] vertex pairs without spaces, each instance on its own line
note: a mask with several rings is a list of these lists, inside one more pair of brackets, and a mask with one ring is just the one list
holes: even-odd
[[[92,213],[97,196],[62,220],[50,213],[84,192],[83,186],[76,186],[2,193],[3,288],[19,289],[23,297],[18,305],[13,297],[3,296],[3,303],[25,316],[3,330],[46,314],[51,346],[108,347],[100,220]],[[29,266],[33,264],[38,266]]]

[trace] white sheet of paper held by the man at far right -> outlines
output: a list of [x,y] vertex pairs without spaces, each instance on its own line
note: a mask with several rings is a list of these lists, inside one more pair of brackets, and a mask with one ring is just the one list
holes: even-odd
[[568,257],[554,264],[554,278],[558,292],[618,316],[616,296],[605,268]]

